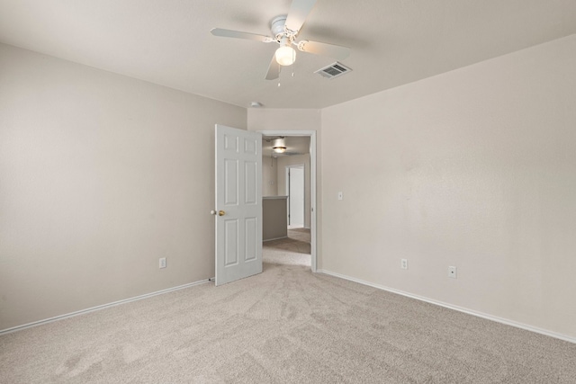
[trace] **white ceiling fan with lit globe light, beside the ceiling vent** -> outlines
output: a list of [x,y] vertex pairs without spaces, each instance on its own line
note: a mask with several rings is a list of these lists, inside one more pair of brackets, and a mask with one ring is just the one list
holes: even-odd
[[306,21],[306,17],[311,13],[316,0],[293,0],[290,11],[287,15],[276,16],[270,22],[270,31],[272,36],[258,35],[242,31],[224,30],[221,28],[212,28],[211,34],[214,36],[236,38],[245,40],[256,40],[262,42],[276,42],[280,45],[275,51],[275,55],[270,62],[267,80],[274,80],[280,76],[280,66],[291,66],[296,60],[296,47],[302,52],[308,52],[315,55],[329,56],[342,60],[350,54],[350,49],[339,45],[327,44],[325,42],[301,40],[296,41],[296,37]]

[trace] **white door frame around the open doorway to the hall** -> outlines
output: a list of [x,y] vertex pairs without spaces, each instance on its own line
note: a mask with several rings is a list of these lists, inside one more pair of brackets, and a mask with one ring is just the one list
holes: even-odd
[[316,218],[316,131],[315,130],[258,130],[262,136],[308,136],[310,137],[310,252],[311,270],[317,271],[317,218]]

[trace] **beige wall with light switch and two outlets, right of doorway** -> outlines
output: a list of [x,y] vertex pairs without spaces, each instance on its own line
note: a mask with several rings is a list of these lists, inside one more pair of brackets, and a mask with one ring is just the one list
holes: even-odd
[[572,35],[323,110],[321,268],[575,337],[574,68]]

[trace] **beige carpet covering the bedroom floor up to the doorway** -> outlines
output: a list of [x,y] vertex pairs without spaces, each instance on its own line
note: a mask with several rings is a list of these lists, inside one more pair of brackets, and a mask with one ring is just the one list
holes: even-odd
[[0,336],[0,382],[573,384],[576,344],[273,260]]

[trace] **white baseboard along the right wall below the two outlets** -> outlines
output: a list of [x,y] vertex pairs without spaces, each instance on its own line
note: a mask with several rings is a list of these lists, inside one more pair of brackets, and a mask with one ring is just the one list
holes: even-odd
[[482,313],[482,312],[478,312],[478,311],[475,311],[475,310],[472,310],[472,309],[458,307],[458,306],[455,306],[455,305],[452,305],[452,304],[447,304],[447,303],[445,303],[445,302],[437,301],[437,300],[434,300],[434,299],[428,299],[428,298],[425,298],[425,297],[419,296],[419,295],[413,295],[413,294],[411,294],[411,293],[404,292],[403,290],[395,290],[395,289],[393,289],[393,288],[384,287],[383,285],[374,284],[373,282],[369,282],[369,281],[363,281],[363,280],[356,279],[356,278],[350,277],[350,276],[346,276],[346,275],[343,275],[343,274],[340,274],[340,273],[330,272],[330,271],[321,270],[321,269],[319,269],[317,272],[319,272],[319,273],[324,273],[324,274],[328,274],[328,275],[330,275],[330,276],[338,277],[338,278],[340,278],[340,279],[344,279],[344,280],[347,280],[347,281],[354,281],[354,282],[357,282],[357,283],[359,283],[359,284],[363,284],[363,285],[367,285],[367,286],[369,286],[369,287],[376,288],[376,289],[378,289],[378,290],[386,290],[386,291],[389,291],[389,292],[392,292],[392,293],[397,293],[397,294],[399,294],[399,295],[406,296],[406,297],[411,298],[411,299],[418,299],[418,300],[421,300],[421,301],[426,301],[427,303],[434,304],[434,305],[437,305],[437,306],[440,306],[440,307],[449,308],[449,309],[454,309],[454,310],[457,310],[458,312],[464,312],[464,313],[466,313],[466,314],[468,314],[468,315],[473,315],[473,316],[476,316],[476,317],[482,317],[482,318],[485,318],[485,319],[487,319],[487,320],[496,321],[497,323],[506,324],[507,326],[515,326],[515,327],[517,327],[517,328],[525,329],[525,330],[530,331],[530,332],[535,332],[536,334],[546,335],[546,336],[554,337],[554,338],[556,338],[556,339],[560,339],[560,340],[563,340],[563,341],[566,341],[566,342],[569,342],[569,343],[574,343],[574,344],[576,344],[576,338],[575,338],[575,337],[572,337],[572,336],[557,334],[557,333],[555,333],[555,332],[548,331],[548,330],[542,329],[542,328],[538,328],[538,327],[536,327],[536,326],[528,326],[528,325],[526,325],[526,324],[518,323],[518,322],[516,322],[516,321],[512,321],[512,320],[509,320],[509,319],[506,319],[506,318],[488,315],[488,314],[485,314],[485,313]]

